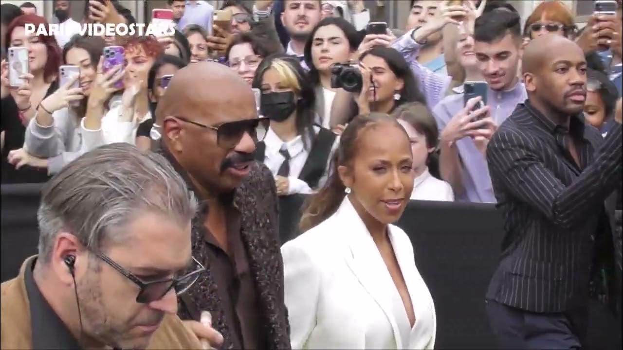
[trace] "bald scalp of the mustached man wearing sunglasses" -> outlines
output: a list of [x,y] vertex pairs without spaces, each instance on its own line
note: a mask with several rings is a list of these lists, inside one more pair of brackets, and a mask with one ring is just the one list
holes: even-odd
[[179,70],[171,78],[156,108],[156,125],[162,126],[166,116],[186,116],[196,120],[201,115],[216,113],[219,106],[244,105],[249,101],[255,102],[254,94],[237,73],[222,64],[197,62]]

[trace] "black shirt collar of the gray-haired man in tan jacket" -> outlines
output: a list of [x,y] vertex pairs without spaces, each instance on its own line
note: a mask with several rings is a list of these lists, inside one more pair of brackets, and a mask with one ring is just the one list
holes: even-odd
[[65,323],[56,315],[39,291],[37,283],[32,277],[32,268],[37,258],[24,272],[24,283],[30,303],[32,348],[33,349],[80,349],[78,342],[70,333]]

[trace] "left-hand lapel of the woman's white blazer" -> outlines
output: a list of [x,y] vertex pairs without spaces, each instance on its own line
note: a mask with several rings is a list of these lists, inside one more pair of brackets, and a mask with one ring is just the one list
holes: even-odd
[[346,264],[383,310],[391,324],[397,349],[402,349],[402,337],[392,308],[391,289],[388,289],[394,288],[394,282],[389,276],[381,253],[348,197],[340,205],[336,216],[338,222],[342,223],[340,229],[345,232],[343,237],[345,237]]

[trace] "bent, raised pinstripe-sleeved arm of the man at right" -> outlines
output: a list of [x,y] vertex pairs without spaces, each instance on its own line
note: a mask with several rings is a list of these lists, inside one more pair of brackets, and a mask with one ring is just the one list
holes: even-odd
[[595,154],[594,162],[565,186],[545,167],[538,143],[521,131],[498,131],[487,149],[493,181],[539,210],[563,229],[586,220],[584,213],[598,206],[621,181],[623,172],[622,128],[617,123]]

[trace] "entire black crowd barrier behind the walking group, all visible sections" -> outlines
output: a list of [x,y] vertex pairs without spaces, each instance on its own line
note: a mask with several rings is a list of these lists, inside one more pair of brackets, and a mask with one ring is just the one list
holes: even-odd
[[[1,186],[2,281],[15,277],[24,258],[37,253],[40,186]],[[305,196],[280,199],[282,242],[298,235],[304,200]],[[397,225],[411,239],[417,268],[435,302],[435,348],[495,348],[484,311],[502,239],[502,219],[493,205],[412,201]],[[594,324],[612,325],[612,318],[591,318]],[[604,335],[596,331],[596,336]]]

